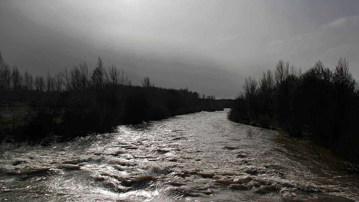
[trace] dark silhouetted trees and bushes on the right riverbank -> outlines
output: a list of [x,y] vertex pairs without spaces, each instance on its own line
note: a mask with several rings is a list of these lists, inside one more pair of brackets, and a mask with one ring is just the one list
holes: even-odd
[[263,72],[259,81],[244,79],[228,118],[304,135],[358,160],[359,91],[348,65],[340,58],[330,70],[318,60],[303,73],[279,60],[274,72]]

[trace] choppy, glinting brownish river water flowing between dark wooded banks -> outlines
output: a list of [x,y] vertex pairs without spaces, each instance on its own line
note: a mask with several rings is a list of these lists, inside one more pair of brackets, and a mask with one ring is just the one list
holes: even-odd
[[[181,115],[52,146],[0,150],[1,201],[351,201],[337,159],[227,111]],[[247,130],[253,137],[247,137]]]

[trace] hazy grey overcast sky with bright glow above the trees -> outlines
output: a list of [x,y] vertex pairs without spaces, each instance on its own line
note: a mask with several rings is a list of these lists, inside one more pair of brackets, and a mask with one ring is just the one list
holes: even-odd
[[133,84],[234,98],[279,59],[303,70],[349,61],[359,79],[359,1],[1,0],[0,51],[9,65],[55,74],[98,56]]

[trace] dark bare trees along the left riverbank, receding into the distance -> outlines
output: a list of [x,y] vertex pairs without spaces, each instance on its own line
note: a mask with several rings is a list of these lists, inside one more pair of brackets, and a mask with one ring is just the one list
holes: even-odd
[[134,86],[115,65],[105,68],[101,58],[92,72],[83,62],[54,76],[48,72],[34,78],[10,68],[0,52],[0,141],[67,139],[120,124],[223,110],[229,102],[188,88],[155,87],[149,77]]

